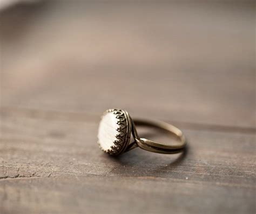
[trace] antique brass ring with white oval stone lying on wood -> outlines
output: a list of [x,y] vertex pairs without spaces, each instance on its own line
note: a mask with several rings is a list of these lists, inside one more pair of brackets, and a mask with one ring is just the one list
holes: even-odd
[[[166,145],[140,138],[136,126],[155,127],[174,134],[180,141],[178,145]],[[131,141],[131,134],[134,138]],[[186,146],[184,134],[175,126],[154,120],[134,119],[122,109],[106,110],[99,123],[98,145],[100,149],[110,155],[120,155],[133,148],[140,147],[146,151],[174,154],[182,152]]]

